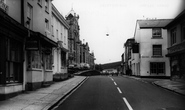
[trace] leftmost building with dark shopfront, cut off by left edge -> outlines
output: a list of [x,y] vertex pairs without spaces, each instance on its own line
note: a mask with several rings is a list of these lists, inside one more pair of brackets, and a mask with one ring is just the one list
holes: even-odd
[[17,0],[14,7],[11,4],[9,0],[0,1],[0,100],[25,89],[24,47],[28,30],[21,18],[21,1]]

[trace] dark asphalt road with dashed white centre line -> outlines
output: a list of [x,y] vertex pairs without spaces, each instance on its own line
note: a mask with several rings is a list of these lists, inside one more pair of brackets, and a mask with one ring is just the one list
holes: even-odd
[[92,76],[56,110],[183,110],[185,97],[136,79]]

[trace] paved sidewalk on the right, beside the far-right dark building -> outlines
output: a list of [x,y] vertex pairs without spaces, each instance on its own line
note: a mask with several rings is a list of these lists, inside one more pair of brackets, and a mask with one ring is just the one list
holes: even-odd
[[185,96],[185,81],[171,80],[171,79],[140,78],[140,77],[126,76],[126,75],[124,75],[124,77],[133,78],[143,82],[150,82],[156,86],[162,87],[164,89],[167,89]]

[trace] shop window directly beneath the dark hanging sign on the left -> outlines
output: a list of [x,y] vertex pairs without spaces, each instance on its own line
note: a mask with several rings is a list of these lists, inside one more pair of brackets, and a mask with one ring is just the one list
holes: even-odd
[[41,69],[41,56],[39,51],[28,51],[28,69]]

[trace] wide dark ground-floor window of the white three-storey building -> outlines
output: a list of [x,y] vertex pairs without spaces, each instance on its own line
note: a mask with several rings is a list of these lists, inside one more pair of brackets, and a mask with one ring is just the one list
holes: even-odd
[[164,74],[165,63],[164,62],[151,62],[150,63],[150,74]]

